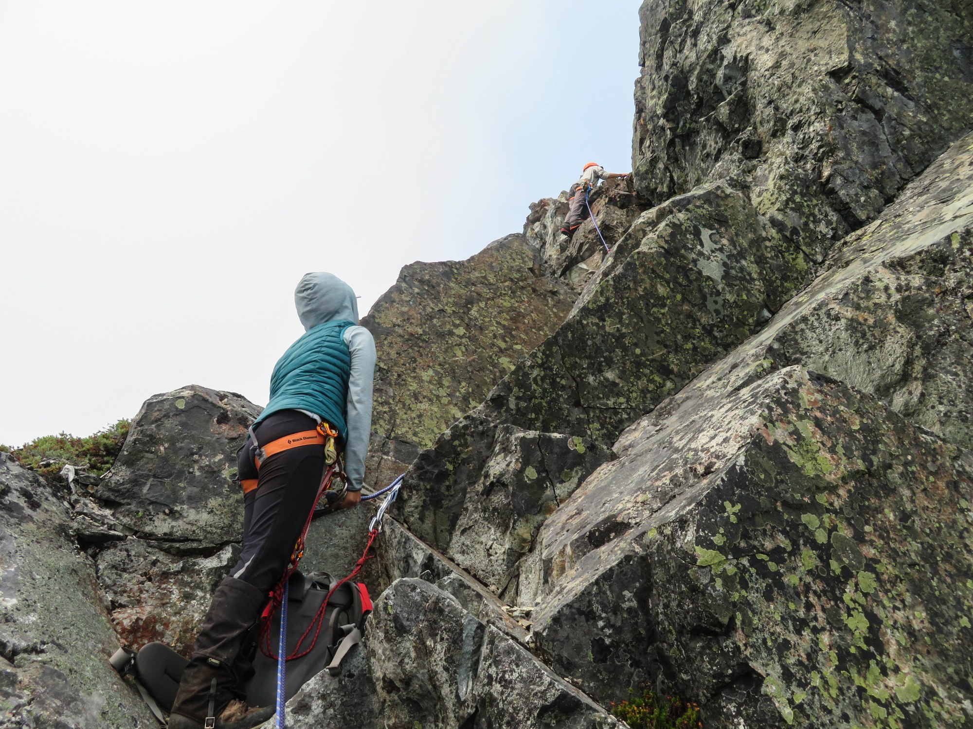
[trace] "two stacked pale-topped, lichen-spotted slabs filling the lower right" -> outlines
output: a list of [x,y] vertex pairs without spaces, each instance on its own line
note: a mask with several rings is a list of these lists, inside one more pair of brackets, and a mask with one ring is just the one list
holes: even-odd
[[973,135],[545,523],[523,572],[555,667],[707,726],[958,725],[971,265]]

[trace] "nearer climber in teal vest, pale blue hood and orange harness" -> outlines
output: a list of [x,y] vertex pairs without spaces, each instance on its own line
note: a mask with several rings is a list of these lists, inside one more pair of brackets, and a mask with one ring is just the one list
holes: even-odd
[[213,595],[179,684],[170,729],[249,729],[273,715],[273,707],[249,708],[243,702],[253,675],[244,642],[313,507],[329,434],[343,449],[348,477],[339,506],[361,499],[372,430],[375,340],[358,326],[355,294],[337,276],[306,274],[294,300],[306,331],[273,367],[270,402],[238,453],[242,552]]

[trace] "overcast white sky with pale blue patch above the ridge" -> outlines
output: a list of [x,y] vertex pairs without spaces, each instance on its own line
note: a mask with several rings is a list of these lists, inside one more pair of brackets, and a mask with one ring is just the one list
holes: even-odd
[[638,5],[0,0],[0,442],[264,404],[306,271],[365,314],[629,171]]

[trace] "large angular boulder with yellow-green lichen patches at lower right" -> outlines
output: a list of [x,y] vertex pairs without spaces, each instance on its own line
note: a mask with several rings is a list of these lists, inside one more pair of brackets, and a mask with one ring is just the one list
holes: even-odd
[[969,453],[797,366],[687,391],[541,532],[555,669],[601,701],[652,677],[707,727],[968,721]]

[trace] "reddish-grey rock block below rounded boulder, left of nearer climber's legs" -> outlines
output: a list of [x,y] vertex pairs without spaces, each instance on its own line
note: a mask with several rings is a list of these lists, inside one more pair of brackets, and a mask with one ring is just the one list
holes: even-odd
[[108,543],[95,564],[119,639],[132,648],[161,641],[189,657],[213,591],[238,554],[236,545],[200,557],[133,537]]

